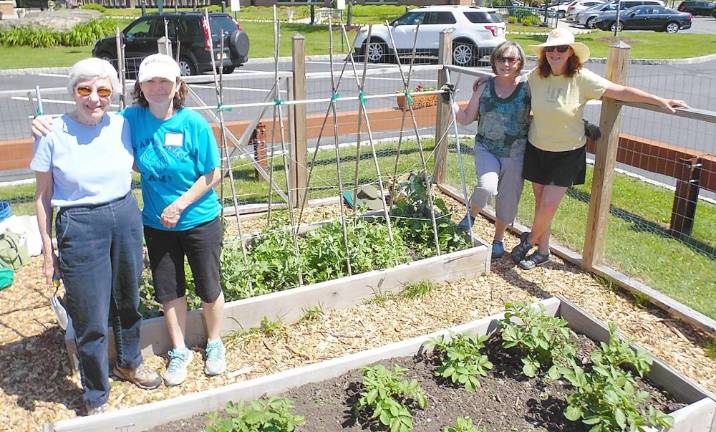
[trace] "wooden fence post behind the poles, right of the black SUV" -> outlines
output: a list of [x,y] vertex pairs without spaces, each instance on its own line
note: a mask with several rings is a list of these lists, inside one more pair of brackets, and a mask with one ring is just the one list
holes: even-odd
[[[291,38],[291,50],[293,54],[293,99],[306,99],[306,39],[303,35],[295,34]],[[307,193],[308,176],[306,169],[308,168],[308,143],[306,138],[306,105],[295,104],[292,106],[293,127],[291,133],[293,140],[291,142],[291,166],[290,166],[290,187],[296,193],[293,194],[294,202],[292,205],[298,207],[303,202],[303,196]]]

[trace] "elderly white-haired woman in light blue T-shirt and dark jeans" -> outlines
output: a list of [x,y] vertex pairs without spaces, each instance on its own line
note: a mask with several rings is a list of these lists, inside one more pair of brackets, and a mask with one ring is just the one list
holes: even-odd
[[[113,374],[145,389],[161,384],[143,365],[139,348],[142,218],[131,193],[131,131],[108,113],[117,73],[97,58],[77,62],[67,89],[75,108],[54,120],[35,142],[35,205],[48,284],[61,278],[75,333],[87,414],[103,412],[109,397],[108,322],[117,364]],[[57,253],[52,245],[52,214]]]

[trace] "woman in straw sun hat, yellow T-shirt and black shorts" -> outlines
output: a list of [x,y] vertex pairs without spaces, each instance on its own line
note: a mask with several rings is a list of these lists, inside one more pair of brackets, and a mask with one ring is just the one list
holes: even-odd
[[[614,84],[585,69],[589,48],[574,41],[565,29],[549,33],[547,42],[533,45],[539,56],[528,76],[533,119],[525,151],[523,177],[532,182],[535,216],[512,249],[515,263],[529,270],[549,261],[552,219],[567,188],[583,184],[586,174],[586,137],[582,113],[587,101],[611,98],[647,103],[674,112],[686,102],[665,99]],[[537,250],[529,254],[534,246]]]

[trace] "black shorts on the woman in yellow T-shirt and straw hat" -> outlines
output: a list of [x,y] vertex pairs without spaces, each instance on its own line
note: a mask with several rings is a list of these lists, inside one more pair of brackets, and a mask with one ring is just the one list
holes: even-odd
[[570,187],[584,184],[587,174],[587,147],[563,152],[540,150],[527,143],[522,177],[545,186]]

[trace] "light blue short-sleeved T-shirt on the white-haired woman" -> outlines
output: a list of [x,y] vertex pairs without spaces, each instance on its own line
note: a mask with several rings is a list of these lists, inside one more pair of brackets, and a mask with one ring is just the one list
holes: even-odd
[[129,193],[133,151],[129,123],[108,113],[97,125],[68,114],[52,122],[52,132],[36,139],[30,168],[52,172],[53,207],[103,204]]

